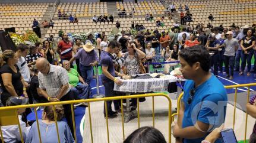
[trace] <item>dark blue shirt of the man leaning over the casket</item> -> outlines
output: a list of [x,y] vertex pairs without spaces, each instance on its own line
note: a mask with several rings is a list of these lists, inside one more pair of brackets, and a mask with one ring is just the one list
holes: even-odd
[[[109,73],[113,77],[115,77],[115,67],[113,65],[112,54],[106,51],[102,51],[102,54],[100,55],[100,63],[102,64],[102,66],[108,66]],[[102,74],[101,78],[102,78],[102,82],[112,81],[108,77],[106,77],[104,74]]]

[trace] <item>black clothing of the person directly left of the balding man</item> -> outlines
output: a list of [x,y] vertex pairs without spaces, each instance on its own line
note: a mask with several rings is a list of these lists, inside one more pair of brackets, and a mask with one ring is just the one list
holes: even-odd
[[48,102],[48,100],[45,97],[38,95],[36,88],[39,88],[39,81],[38,81],[38,76],[34,75],[31,78],[31,82],[30,82],[30,92],[34,100],[36,100],[37,103]]

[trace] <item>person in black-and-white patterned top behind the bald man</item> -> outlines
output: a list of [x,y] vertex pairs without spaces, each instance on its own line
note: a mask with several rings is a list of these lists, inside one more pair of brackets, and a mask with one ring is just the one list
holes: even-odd
[[34,45],[31,45],[29,47],[29,54],[25,57],[25,60],[27,61],[27,66],[31,67],[32,65],[36,64],[37,58],[42,57],[40,53],[38,53],[37,47]]

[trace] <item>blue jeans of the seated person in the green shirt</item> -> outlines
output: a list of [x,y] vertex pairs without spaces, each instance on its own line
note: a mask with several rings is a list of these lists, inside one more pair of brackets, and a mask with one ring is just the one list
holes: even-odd
[[88,99],[89,88],[87,84],[78,83],[77,86],[71,88],[72,92],[77,95],[75,99]]

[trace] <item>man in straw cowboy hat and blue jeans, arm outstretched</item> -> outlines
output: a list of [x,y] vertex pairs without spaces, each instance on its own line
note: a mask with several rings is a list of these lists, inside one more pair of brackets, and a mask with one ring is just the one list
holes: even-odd
[[96,66],[99,61],[99,57],[94,48],[91,43],[86,43],[86,45],[83,45],[83,49],[79,50],[75,56],[69,60],[69,63],[73,63],[75,59],[80,59],[79,67],[82,74],[81,76],[89,85],[89,95],[91,94],[90,83],[93,79],[93,67]]

